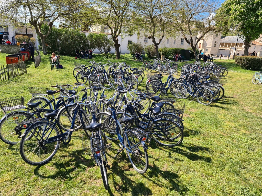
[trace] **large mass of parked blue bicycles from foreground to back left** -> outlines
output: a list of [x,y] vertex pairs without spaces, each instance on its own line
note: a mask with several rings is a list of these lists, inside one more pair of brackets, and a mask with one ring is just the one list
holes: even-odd
[[[185,104],[138,91],[143,69],[130,68],[125,62],[90,63],[76,64],[74,85],[57,83],[51,86],[55,90],[29,87],[32,99],[27,106],[21,96],[1,99],[6,115],[0,121],[0,139],[10,145],[20,142],[26,163],[44,165],[61,142],[67,145],[72,133],[81,128],[83,149],[100,167],[107,189],[110,166],[105,152],[112,147],[111,141],[120,147],[115,157],[125,151],[133,168],[143,174],[149,165],[151,140],[167,147],[182,142]],[[174,74],[172,70],[163,65],[163,71]]]

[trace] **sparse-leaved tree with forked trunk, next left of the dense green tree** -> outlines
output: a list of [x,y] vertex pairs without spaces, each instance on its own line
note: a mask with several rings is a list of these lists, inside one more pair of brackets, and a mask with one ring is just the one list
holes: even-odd
[[198,42],[206,34],[211,35],[224,30],[224,27],[217,24],[217,21],[224,20],[216,15],[218,7],[217,0],[182,0],[176,7],[176,31],[181,32],[184,40],[191,46],[196,61]]

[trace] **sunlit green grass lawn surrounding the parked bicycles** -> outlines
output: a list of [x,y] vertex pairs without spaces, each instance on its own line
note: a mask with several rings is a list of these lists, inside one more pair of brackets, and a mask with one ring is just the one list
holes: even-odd
[[[73,84],[74,62],[87,64],[62,56],[64,69],[51,71],[48,56],[41,59],[37,68],[32,61],[26,63],[27,75],[0,83],[0,99],[24,96],[27,102],[28,87]],[[101,56],[94,60],[107,61]],[[141,66],[141,62],[126,62]],[[37,167],[24,163],[19,145],[1,141],[0,195],[262,195],[261,85],[252,83],[254,71],[242,70],[233,60],[215,62],[229,70],[224,98],[209,106],[183,100],[183,143],[167,148],[152,141],[145,174],[135,172],[124,152],[113,158],[119,148],[113,143],[107,151],[110,189],[105,191],[99,168],[82,150],[81,130],[51,162]],[[5,64],[5,54],[0,54],[0,64]],[[144,83],[140,89],[145,90]]]

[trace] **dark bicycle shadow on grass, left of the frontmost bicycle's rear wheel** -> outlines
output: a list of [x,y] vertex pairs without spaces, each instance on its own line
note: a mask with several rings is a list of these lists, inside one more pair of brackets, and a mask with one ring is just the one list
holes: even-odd
[[57,169],[55,174],[42,175],[39,172],[41,166],[37,166],[34,170],[34,175],[39,176],[41,178],[55,179],[56,177],[60,177],[62,178],[62,180],[67,180],[67,179],[75,178],[75,176],[71,176],[70,173],[76,169],[83,168],[83,165],[89,168],[94,166],[94,161],[91,158],[86,159],[83,156],[83,150],[75,150],[73,152],[72,151],[69,152],[66,150],[63,150],[63,151],[67,152],[68,155],[62,155],[60,158],[63,160],[65,158],[69,158],[69,159],[67,159],[67,161],[53,163],[53,165]]

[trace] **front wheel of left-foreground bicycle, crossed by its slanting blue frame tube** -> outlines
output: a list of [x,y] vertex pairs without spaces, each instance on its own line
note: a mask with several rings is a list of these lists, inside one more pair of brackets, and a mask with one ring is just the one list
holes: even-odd
[[[64,131],[69,130],[72,126],[72,120],[73,120],[73,116],[74,116],[74,112],[73,112],[74,108],[75,108],[75,105],[67,106],[67,108],[64,106],[64,107],[62,107],[62,109],[57,114],[58,125]],[[76,119],[75,119],[75,126],[74,126],[73,130],[76,131],[76,130],[80,129],[81,127],[82,127],[82,125],[80,123],[80,118],[79,118],[79,115],[77,114]]]

